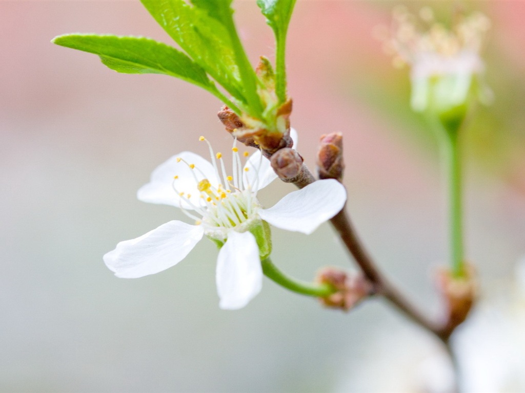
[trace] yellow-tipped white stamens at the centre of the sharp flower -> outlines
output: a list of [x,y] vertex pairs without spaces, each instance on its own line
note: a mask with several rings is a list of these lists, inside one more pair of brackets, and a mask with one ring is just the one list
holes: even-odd
[[[259,207],[255,191],[257,184],[246,184],[247,181],[243,177],[243,165],[236,147],[236,140],[234,140],[232,147],[233,176],[229,176],[226,172],[223,155],[220,152],[215,154],[212,145],[203,136],[199,137],[199,140],[205,141],[208,145],[211,162],[215,169],[215,176],[219,183],[212,184],[193,163],[177,158],[177,162],[186,165],[192,170],[202,203],[199,205],[192,203],[192,195],[178,189],[178,176],[174,176],[173,189],[180,195],[181,200],[190,205],[194,212],[202,216],[202,219],[181,206],[182,211],[188,217],[195,220],[197,225],[205,225],[208,235],[219,239],[226,238],[226,231],[229,228],[244,224],[254,217],[254,213]],[[248,152],[244,152],[244,157],[247,156]],[[219,165],[217,165],[217,161]],[[244,168],[244,171],[248,170],[249,168]]]

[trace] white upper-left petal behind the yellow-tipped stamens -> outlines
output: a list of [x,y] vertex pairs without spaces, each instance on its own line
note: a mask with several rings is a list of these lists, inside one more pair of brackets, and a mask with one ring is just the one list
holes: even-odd
[[[177,158],[181,158],[177,162]],[[194,164],[191,169],[187,164]],[[174,179],[178,176],[178,179]],[[159,203],[192,209],[192,205],[181,199],[175,191],[190,194],[190,201],[195,206],[203,204],[201,193],[197,189],[197,181],[208,179],[210,183],[218,185],[217,175],[212,164],[191,151],[183,151],[159,165],[152,173],[148,184],[144,184],[137,192],[137,198],[143,202]]]

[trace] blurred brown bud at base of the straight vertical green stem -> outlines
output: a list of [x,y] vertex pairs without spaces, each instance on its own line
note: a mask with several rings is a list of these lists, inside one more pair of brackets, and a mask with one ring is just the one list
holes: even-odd
[[471,267],[467,269],[464,277],[454,277],[450,270],[440,269],[436,281],[446,304],[446,324],[451,332],[467,318],[476,300],[477,281]]

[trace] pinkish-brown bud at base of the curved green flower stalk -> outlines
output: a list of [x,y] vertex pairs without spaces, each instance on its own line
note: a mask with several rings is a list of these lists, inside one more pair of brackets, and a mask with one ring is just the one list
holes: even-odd
[[337,290],[330,296],[319,298],[325,307],[348,311],[373,293],[372,284],[362,274],[349,276],[344,271],[333,267],[321,270],[317,280]]

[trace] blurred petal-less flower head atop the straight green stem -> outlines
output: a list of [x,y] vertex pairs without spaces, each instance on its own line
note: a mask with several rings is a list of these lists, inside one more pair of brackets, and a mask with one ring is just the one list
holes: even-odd
[[411,104],[415,111],[449,111],[463,105],[473,88],[482,101],[490,100],[488,88],[474,83],[484,71],[479,51],[489,25],[486,16],[476,13],[459,16],[447,30],[434,21],[428,7],[421,10],[419,18],[403,7],[395,10],[392,32],[385,38],[386,49],[394,54],[395,63],[411,66]]

